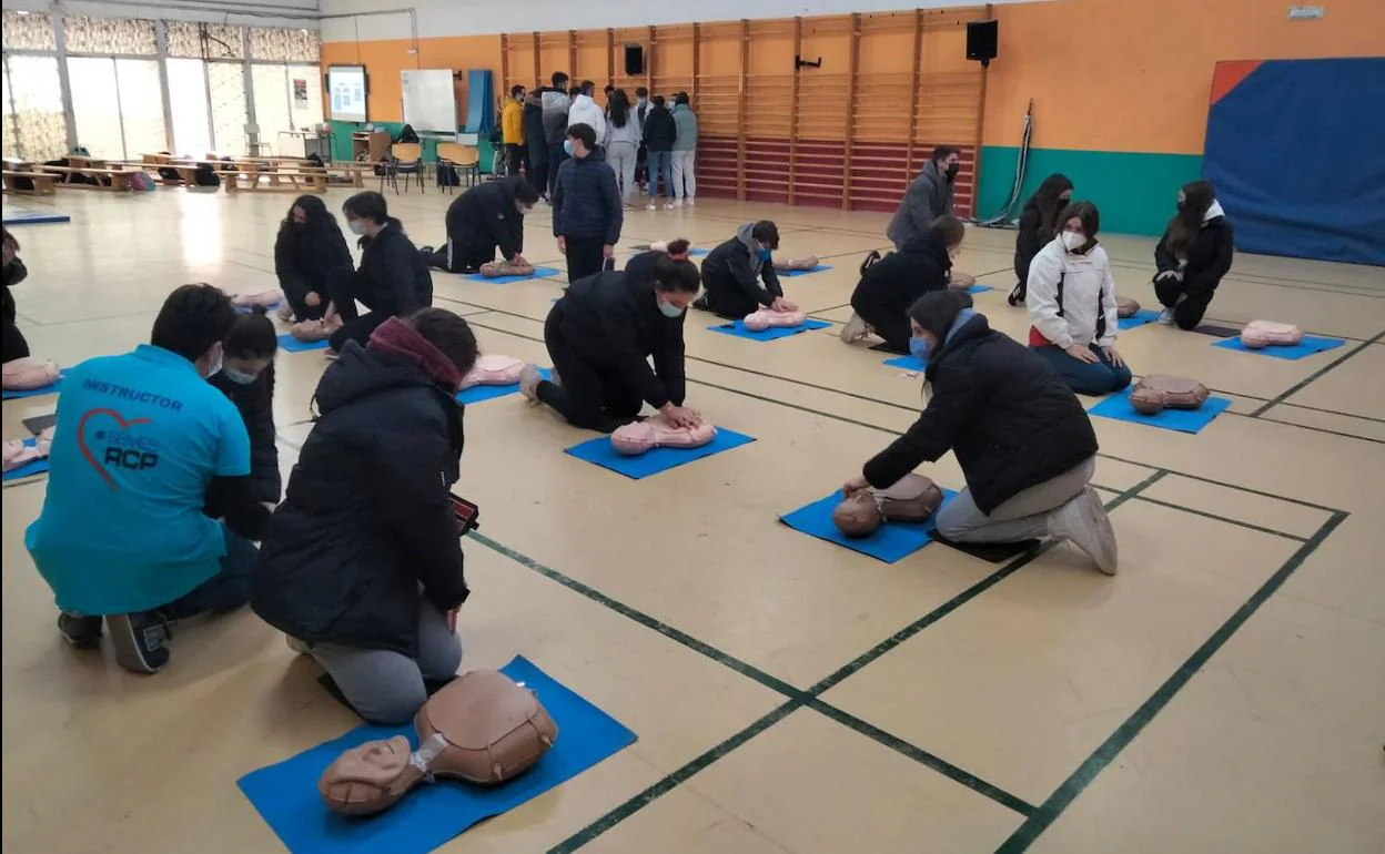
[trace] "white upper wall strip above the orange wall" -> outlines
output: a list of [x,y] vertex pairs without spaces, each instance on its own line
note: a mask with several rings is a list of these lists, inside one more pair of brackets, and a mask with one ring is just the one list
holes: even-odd
[[[1035,3],[1042,0],[992,0]],[[1116,1],[1116,0],[1111,0]],[[1129,0],[1120,0],[1129,1]],[[655,0],[320,0],[324,15],[355,15],[375,10],[413,8],[418,35],[475,36],[533,30],[650,26],[692,21],[792,18],[867,11],[957,7],[958,0],[698,0],[695,4]],[[979,6],[979,4],[978,4]],[[407,12],[323,21],[323,42],[407,39]]]

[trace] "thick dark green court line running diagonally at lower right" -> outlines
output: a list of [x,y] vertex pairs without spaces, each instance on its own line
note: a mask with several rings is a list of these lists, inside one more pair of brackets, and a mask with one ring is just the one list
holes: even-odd
[[1276,572],[1270,579],[1260,585],[1255,594],[1246,599],[1241,608],[1235,610],[1231,617],[1217,628],[1210,638],[1208,638],[1198,649],[1180,666],[1173,675],[1170,675],[1163,685],[1150,696],[1136,711],[1132,714],[1120,727],[1116,728],[1105,742],[1097,747],[1091,756],[1078,767],[1072,775],[1058,786],[1058,789],[1048,796],[1040,807],[1039,811],[1025,819],[1019,828],[1011,833],[999,848],[996,854],[1019,854],[1026,851],[1029,846],[1035,843],[1039,836],[1047,830],[1053,822],[1062,815],[1072,801],[1078,799],[1082,792],[1091,785],[1101,771],[1109,765],[1116,756],[1120,754],[1126,746],[1140,731],[1144,729],[1150,721],[1159,714],[1169,702],[1187,685],[1198,670],[1201,670],[1213,655],[1217,653],[1222,646],[1245,624],[1251,616],[1259,610],[1260,605],[1265,605],[1274,592],[1284,585],[1284,583],[1292,576],[1299,566],[1312,555],[1327,537],[1337,530],[1337,527],[1346,519],[1349,514],[1337,511],[1332,518],[1324,522],[1303,545],[1289,556],[1289,559]]

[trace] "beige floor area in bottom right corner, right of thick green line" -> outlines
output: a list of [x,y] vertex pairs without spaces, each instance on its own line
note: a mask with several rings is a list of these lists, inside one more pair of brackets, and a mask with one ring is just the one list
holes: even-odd
[[1377,854],[1381,662],[1381,623],[1271,598],[1030,850]]

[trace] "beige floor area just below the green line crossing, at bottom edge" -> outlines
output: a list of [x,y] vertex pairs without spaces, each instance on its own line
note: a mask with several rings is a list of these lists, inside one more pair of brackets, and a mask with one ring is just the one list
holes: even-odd
[[799,854],[992,851],[1021,821],[807,710],[792,713],[686,785]]

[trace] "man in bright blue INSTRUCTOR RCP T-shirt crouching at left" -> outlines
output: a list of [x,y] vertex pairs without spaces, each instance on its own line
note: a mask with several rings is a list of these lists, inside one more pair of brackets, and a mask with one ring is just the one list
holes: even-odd
[[168,663],[170,620],[233,610],[249,594],[251,540],[270,511],[251,487],[245,424],[206,382],[234,322],[222,291],[183,285],[150,343],[64,376],[48,491],[25,545],[64,637],[97,646],[104,616],[116,662],[133,673]]

